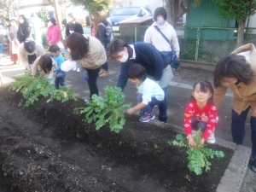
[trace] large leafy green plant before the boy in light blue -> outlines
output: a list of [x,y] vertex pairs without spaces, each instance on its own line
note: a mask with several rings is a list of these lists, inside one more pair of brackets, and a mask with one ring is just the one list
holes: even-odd
[[86,108],[75,108],[75,113],[84,113],[84,121],[87,123],[96,122],[96,130],[103,125],[109,124],[111,131],[119,133],[125,125],[124,108],[129,108],[131,104],[123,104],[125,95],[119,87],[107,86],[104,88],[106,98],[93,95],[91,101],[85,99],[88,105]]

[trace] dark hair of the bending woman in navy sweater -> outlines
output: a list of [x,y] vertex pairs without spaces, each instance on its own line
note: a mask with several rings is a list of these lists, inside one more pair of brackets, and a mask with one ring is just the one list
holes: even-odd
[[129,44],[127,44],[125,41],[121,39],[114,39],[109,44],[109,55],[111,58],[115,58],[114,55],[116,53],[119,53],[125,49],[125,47],[128,49],[128,55],[129,58],[132,56],[132,49]]

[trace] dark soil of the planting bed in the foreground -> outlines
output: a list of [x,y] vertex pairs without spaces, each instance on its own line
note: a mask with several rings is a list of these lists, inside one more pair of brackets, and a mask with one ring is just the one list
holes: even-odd
[[[171,125],[126,116],[119,134],[82,123],[81,102],[49,102],[20,108],[19,93],[0,90],[0,191],[215,191],[234,153],[210,160],[201,176],[189,172],[184,148],[167,144]],[[183,118],[183,117],[181,117]],[[12,190],[11,190],[12,189]]]

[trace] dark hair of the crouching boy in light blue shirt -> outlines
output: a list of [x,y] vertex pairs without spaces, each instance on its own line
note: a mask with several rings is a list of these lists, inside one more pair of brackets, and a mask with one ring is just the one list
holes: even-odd
[[141,79],[144,81],[147,78],[146,70],[140,64],[134,63],[128,70],[129,79]]

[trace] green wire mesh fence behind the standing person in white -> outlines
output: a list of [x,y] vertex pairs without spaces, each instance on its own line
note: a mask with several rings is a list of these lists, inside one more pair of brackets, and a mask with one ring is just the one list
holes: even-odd
[[[148,26],[119,26],[114,38],[128,44],[144,40]],[[237,28],[231,27],[189,27],[176,28],[180,45],[180,61],[216,64],[224,55],[237,48]],[[246,28],[244,44],[256,43],[256,28]]]

